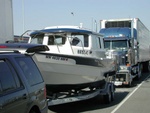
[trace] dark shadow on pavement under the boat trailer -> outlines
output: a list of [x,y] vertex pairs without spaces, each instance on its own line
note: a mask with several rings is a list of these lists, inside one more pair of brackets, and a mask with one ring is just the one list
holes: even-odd
[[51,106],[49,107],[49,110],[53,111],[54,113],[81,113],[103,109],[120,103],[128,95],[128,93],[129,92],[115,92],[115,100],[110,104],[104,104],[103,101],[98,101],[97,98],[93,98],[80,102]]

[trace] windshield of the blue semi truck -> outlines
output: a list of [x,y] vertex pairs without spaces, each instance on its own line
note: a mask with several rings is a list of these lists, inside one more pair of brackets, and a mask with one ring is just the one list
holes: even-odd
[[127,49],[127,40],[107,40],[104,41],[105,49]]

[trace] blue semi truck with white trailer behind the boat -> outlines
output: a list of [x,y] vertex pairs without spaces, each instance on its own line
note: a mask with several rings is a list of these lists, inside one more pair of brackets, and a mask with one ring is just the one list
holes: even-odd
[[100,20],[106,57],[116,59],[114,84],[131,86],[149,71],[150,31],[139,18]]

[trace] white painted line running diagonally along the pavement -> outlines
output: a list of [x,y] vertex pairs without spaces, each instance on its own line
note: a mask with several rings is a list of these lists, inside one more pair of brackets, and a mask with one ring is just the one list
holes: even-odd
[[[148,77],[150,77],[150,75]],[[141,84],[139,84],[111,113],[115,113],[136,92],[136,90],[139,89],[139,87],[141,87],[141,85],[145,82],[146,79],[148,79],[148,77],[146,77],[141,82]]]

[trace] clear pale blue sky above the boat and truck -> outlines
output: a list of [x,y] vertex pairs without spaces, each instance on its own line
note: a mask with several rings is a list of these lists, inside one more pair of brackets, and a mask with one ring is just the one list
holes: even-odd
[[139,18],[150,30],[150,0],[12,0],[14,35],[48,26],[83,24],[99,31],[100,20]]

